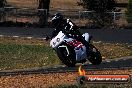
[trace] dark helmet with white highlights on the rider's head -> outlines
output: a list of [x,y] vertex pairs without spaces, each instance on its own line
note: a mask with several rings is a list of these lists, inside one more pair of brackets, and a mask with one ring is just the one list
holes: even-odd
[[63,20],[63,15],[61,13],[56,13],[52,16],[52,25],[57,27]]

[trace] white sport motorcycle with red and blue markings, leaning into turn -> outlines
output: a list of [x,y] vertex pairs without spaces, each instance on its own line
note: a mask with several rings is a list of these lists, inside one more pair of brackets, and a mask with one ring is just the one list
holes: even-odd
[[50,41],[50,46],[56,51],[59,59],[68,67],[73,67],[76,63],[85,63],[87,60],[93,65],[102,62],[101,53],[90,43],[89,34],[85,33],[82,36],[89,43],[89,53],[86,53],[84,44],[74,38],[69,38],[62,31]]

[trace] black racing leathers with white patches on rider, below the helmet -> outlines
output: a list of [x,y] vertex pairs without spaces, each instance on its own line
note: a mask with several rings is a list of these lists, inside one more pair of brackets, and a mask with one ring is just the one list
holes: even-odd
[[63,19],[60,23],[58,23],[58,25],[56,25],[56,28],[52,32],[51,38],[55,37],[60,31],[62,31],[68,37],[75,38],[85,45],[86,41],[77,29],[78,27],[70,19]]

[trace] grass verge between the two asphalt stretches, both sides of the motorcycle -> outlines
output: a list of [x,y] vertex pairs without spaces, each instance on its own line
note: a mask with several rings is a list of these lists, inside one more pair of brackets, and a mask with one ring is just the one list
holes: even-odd
[[[132,46],[93,42],[101,52],[103,59],[131,56]],[[0,38],[0,69],[22,69],[61,64],[49,41],[26,38]]]

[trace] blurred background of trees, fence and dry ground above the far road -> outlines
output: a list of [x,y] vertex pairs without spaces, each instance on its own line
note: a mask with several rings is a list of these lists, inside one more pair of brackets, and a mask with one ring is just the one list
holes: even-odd
[[1,0],[0,26],[50,27],[56,12],[80,27],[132,26],[132,0]]

